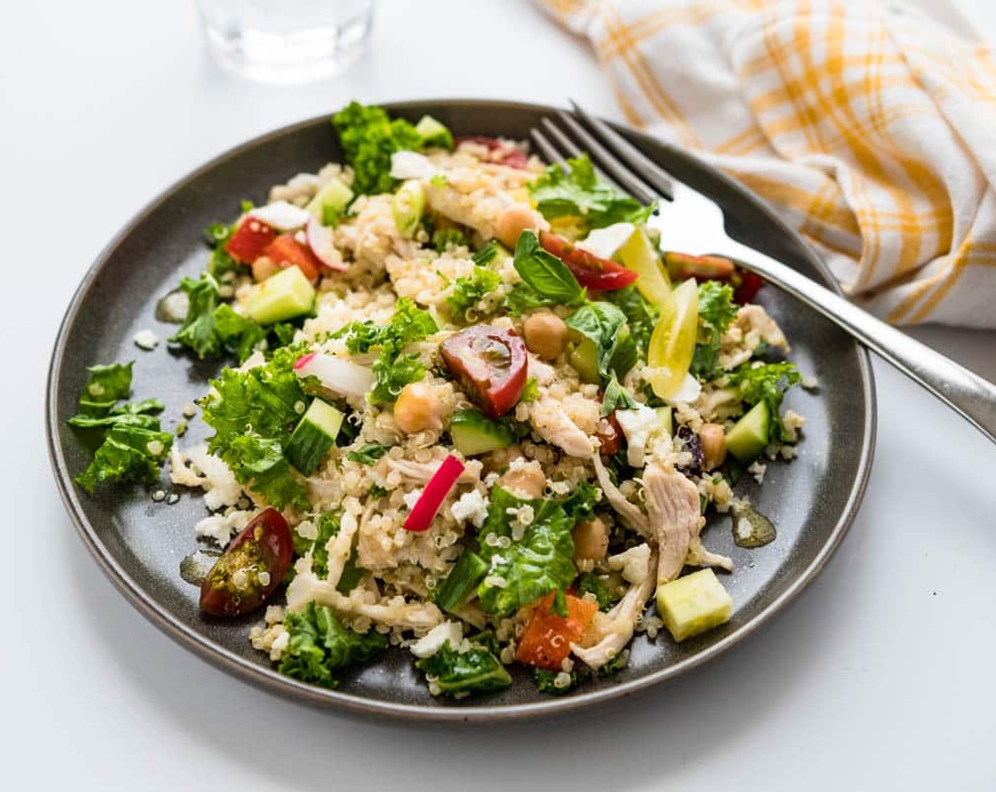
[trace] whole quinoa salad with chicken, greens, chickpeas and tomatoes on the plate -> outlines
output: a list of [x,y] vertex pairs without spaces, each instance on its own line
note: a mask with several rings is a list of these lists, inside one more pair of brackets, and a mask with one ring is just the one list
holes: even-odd
[[654,207],[587,156],[357,103],[333,125],[345,162],[212,226],[164,301],[173,345],[228,360],[196,405],[213,434],[174,438],[158,401],[120,403],[129,367],[95,367],[81,486],[168,459],[203,490],[205,618],[254,615],[252,646],[326,687],[394,647],[435,695],[501,690],[514,664],[557,694],[638,632],[727,622],[705,515],[771,541],[733,487],[803,424],[760,282],[660,254]]

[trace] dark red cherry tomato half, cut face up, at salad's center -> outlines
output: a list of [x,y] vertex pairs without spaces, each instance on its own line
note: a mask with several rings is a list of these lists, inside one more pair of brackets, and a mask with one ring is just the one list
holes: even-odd
[[515,406],[526,387],[526,345],[515,333],[474,325],[439,348],[467,396],[493,418]]

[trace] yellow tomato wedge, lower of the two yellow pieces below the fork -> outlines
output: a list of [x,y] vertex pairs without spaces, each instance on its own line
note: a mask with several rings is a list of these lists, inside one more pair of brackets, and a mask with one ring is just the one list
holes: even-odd
[[650,387],[661,398],[674,395],[684,382],[695,354],[698,336],[698,284],[689,278],[671,292],[660,306],[660,318],[646,363],[650,367]]

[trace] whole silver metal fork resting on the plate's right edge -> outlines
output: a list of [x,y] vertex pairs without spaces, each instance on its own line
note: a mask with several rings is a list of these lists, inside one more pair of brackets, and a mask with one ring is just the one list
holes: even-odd
[[561,126],[544,119],[543,130],[532,131],[548,160],[563,163],[566,156],[587,150],[610,183],[644,204],[658,202],[658,214],[650,224],[660,231],[662,250],[733,259],[823,314],[996,442],[996,386],[791,267],[731,238],[715,201],[671,176],[606,122],[572,105],[574,115],[557,114]]

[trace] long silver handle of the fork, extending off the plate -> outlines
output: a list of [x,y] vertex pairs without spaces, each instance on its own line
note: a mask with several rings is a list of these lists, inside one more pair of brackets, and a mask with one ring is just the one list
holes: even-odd
[[820,312],[996,442],[996,386],[934,352],[791,267],[727,239],[716,251]]

